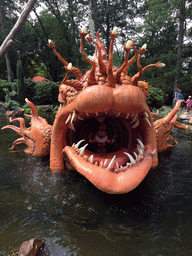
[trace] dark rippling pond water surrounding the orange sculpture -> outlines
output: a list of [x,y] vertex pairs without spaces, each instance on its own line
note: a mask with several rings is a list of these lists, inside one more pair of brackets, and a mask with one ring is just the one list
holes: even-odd
[[49,159],[11,151],[18,135],[0,130],[0,255],[34,237],[52,256],[192,255],[192,132],[173,135],[139,187],[108,195],[76,172],[52,176]]

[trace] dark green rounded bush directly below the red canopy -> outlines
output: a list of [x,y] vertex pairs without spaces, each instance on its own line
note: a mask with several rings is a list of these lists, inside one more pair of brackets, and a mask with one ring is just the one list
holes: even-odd
[[35,91],[38,104],[56,104],[59,85],[54,82],[36,82]]

